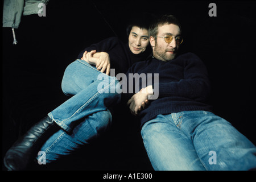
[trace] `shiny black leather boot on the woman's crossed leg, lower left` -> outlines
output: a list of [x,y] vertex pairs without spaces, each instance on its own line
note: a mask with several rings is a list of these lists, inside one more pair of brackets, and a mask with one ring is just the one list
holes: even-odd
[[60,127],[48,116],[36,123],[18,139],[6,152],[3,162],[9,171],[26,170],[35,159],[40,147],[56,133]]

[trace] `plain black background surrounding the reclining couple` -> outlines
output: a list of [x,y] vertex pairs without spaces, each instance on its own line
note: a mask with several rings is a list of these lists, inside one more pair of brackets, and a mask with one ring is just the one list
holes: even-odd
[[[208,15],[211,2],[217,5],[217,17]],[[51,0],[46,17],[22,16],[15,30],[18,44],[13,45],[11,28],[2,28],[2,159],[32,124],[68,99],[61,92],[61,78],[79,52],[110,36],[127,42],[126,22],[141,11],[174,14],[180,20],[181,51],[196,53],[207,66],[214,112],[255,144],[255,5],[255,1]],[[75,155],[32,169],[152,170],[138,122],[126,117],[115,120],[104,137]]]

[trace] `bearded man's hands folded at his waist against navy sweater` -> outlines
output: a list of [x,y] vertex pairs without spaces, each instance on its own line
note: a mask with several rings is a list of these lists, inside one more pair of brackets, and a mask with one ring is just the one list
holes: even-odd
[[130,100],[127,102],[131,114],[138,115],[139,111],[145,109],[148,105],[148,96],[152,94],[152,85],[141,89],[138,93],[135,93],[133,97],[131,97]]

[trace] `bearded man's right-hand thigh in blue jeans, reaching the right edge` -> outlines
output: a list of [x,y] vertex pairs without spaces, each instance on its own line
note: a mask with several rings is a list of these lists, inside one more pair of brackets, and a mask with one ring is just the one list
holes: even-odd
[[193,143],[208,170],[248,170],[256,167],[254,144],[228,121],[210,112],[199,115],[196,121],[199,124],[193,129]]

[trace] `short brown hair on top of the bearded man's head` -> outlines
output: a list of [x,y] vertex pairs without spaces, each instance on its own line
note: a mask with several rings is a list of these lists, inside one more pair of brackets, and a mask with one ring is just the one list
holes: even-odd
[[158,27],[163,26],[164,24],[176,24],[176,26],[179,26],[181,32],[180,22],[174,15],[162,15],[151,23],[148,30],[149,36],[156,37],[156,35],[158,35]]

